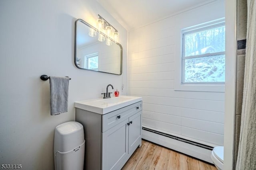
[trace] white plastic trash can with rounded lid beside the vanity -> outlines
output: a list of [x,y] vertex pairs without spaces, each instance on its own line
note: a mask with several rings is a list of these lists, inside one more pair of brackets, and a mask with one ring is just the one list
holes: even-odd
[[69,121],[55,128],[54,169],[84,169],[84,128],[81,123]]

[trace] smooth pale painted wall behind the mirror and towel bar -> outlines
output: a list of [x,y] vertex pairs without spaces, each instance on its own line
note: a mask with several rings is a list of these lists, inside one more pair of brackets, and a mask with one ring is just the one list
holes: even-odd
[[[120,33],[121,76],[74,65],[75,20],[95,25],[97,14]],[[100,98],[112,84],[126,94],[127,32],[96,0],[0,1],[0,163],[22,169],[54,169],[54,128],[74,121],[74,102]],[[68,113],[50,116],[49,80],[69,76]]]

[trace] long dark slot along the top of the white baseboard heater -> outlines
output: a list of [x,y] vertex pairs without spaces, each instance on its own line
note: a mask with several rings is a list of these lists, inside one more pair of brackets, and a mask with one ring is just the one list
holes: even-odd
[[177,137],[177,136],[174,136],[174,135],[169,135],[167,133],[162,133],[162,132],[159,132],[159,131],[156,131],[156,130],[153,130],[153,129],[149,129],[149,128],[146,128],[146,127],[142,127],[142,130],[149,131],[149,132],[152,132],[152,133],[156,133],[158,135],[162,135],[162,136],[174,139],[174,140],[185,142],[185,143],[188,143],[190,145],[194,145],[194,146],[197,146],[197,147],[200,147],[200,148],[204,148],[204,149],[208,149],[208,150],[213,149],[213,147],[210,147],[208,145],[204,145],[202,143],[197,143],[197,142],[190,141],[188,139],[184,139],[184,138],[181,138],[181,137]]

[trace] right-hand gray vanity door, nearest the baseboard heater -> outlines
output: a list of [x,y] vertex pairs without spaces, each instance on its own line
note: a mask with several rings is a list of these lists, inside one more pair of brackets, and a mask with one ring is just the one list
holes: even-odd
[[129,154],[132,154],[136,148],[141,145],[141,113],[129,117]]

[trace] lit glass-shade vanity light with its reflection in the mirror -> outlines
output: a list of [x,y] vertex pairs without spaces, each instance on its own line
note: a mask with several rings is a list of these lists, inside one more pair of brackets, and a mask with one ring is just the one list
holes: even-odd
[[93,28],[89,28],[89,35],[91,37],[96,37],[98,33],[98,41],[105,41],[106,45],[112,45],[112,42],[118,43],[118,31],[108,23],[102,16],[98,15],[99,18],[97,20],[97,30]]

